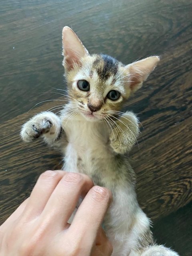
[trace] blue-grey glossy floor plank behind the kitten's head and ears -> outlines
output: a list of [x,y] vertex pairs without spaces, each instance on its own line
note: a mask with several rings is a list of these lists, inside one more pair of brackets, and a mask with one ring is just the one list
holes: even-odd
[[[90,52],[124,63],[190,44],[191,0],[1,2],[1,120],[51,98],[62,86],[61,30],[71,26]],[[178,60],[182,66],[183,55]],[[174,63],[174,62],[173,62]],[[157,74],[157,73],[156,73]],[[158,74],[162,76],[161,73]],[[30,92],[30,93],[29,93]]]

